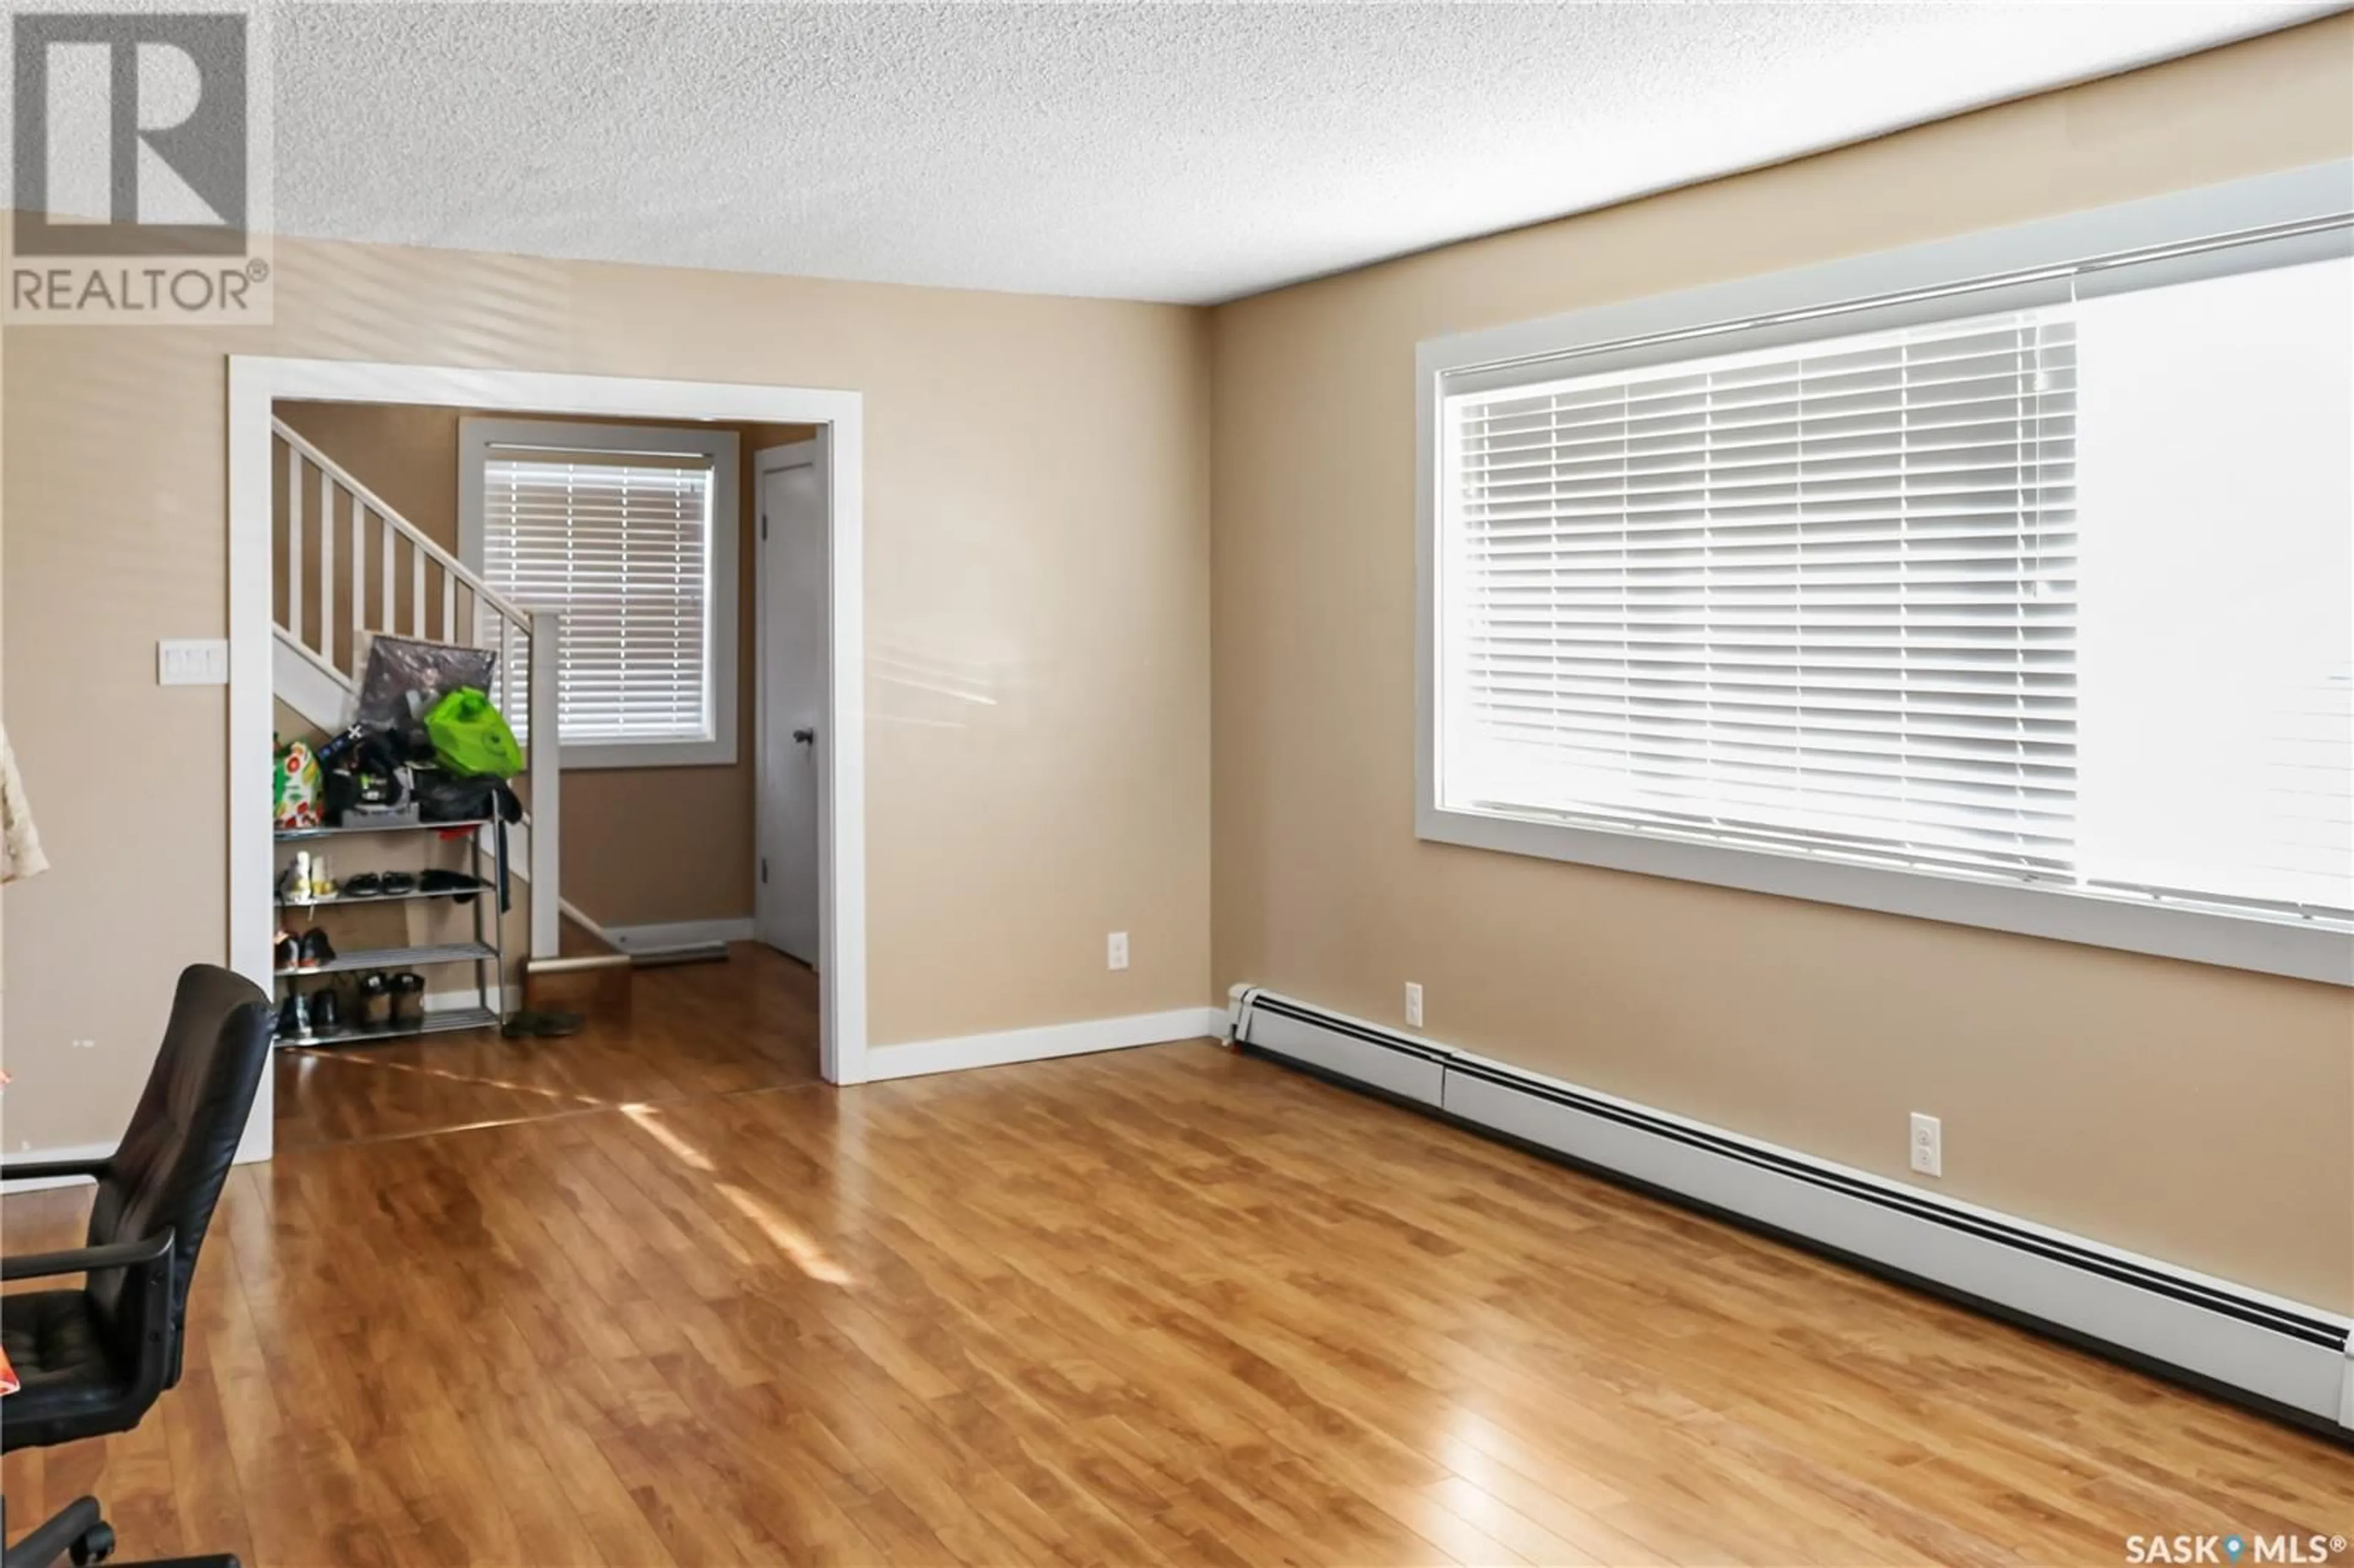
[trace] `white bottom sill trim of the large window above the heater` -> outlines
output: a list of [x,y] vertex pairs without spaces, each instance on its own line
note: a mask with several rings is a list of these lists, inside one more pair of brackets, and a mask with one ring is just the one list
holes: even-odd
[[2020,888],[1944,871],[1841,864],[1436,805],[1415,812],[1415,833],[1431,843],[1474,850],[2354,986],[2354,932],[2272,916]]

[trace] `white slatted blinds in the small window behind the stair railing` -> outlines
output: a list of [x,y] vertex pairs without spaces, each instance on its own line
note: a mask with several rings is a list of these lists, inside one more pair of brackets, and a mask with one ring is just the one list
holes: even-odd
[[[483,572],[527,610],[563,612],[563,742],[713,735],[711,466],[645,457],[492,452]],[[501,671],[516,730],[523,669]]]

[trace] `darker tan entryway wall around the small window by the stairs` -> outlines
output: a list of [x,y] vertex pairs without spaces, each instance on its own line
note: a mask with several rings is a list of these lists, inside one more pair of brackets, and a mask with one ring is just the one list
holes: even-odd
[[[400,516],[457,553],[457,426],[468,410],[405,403],[280,403],[278,417]],[[499,414],[513,419],[518,414]],[[572,424],[626,424],[556,414]],[[654,421],[659,424],[659,421]],[[718,424],[742,450],[737,574],[737,760],[727,768],[567,768],[565,899],[600,925],[730,921],[753,913],[753,454],[807,440],[807,426]],[[631,845],[614,855],[612,845]]]

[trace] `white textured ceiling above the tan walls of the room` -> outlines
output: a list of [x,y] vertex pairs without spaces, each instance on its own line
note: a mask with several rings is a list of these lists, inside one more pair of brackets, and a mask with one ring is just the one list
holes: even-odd
[[2338,5],[285,5],[285,233],[1219,301]]

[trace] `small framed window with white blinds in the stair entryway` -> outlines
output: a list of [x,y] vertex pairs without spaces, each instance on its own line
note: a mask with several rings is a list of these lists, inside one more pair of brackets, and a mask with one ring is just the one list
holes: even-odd
[[[466,419],[461,544],[525,610],[563,612],[567,768],[734,760],[737,438]],[[518,732],[523,662],[499,676]]]

